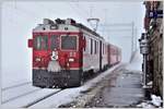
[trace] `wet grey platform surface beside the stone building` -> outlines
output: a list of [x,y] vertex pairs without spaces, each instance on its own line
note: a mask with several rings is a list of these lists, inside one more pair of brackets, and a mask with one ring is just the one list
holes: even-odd
[[86,107],[132,108],[143,98],[141,73],[124,69],[117,76],[108,80],[108,85]]

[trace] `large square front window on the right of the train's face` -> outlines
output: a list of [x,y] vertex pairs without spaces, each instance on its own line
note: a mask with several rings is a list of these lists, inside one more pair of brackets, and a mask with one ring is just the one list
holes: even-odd
[[77,36],[61,36],[61,49],[77,50]]

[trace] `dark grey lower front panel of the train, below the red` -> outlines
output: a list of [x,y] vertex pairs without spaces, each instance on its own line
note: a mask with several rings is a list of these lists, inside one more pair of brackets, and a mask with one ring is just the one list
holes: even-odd
[[82,70],[61,70],[48,72],[47,70],[33,70],[33,85],[48,88],[66,88],[80,86]]

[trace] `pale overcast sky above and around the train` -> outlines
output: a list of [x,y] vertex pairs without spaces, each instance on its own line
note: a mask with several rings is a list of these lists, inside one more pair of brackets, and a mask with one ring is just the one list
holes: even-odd
[[[32,52],[27,39],[43,19],[72,17],[89,27],[89,17],[99,19],[97,32],[109,43],[122,49],[122,61],[131,53],[132,26],[101,26],[134,23],[137,37],[143,32],[143,2],[21,2],[2,3],[2,72],[31,76]],[[2,73],[2,74],[3,74]]]

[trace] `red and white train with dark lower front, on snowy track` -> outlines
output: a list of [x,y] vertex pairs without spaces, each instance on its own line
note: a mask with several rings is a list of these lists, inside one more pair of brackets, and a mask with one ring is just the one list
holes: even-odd
[[33,85],[80,86],[83,74],[97,72],[121,60],[121,50],[72,19],[44,23],[33,29]]

